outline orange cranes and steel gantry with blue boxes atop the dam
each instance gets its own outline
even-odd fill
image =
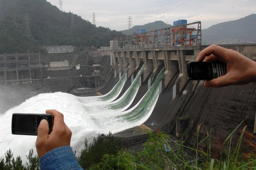
[[[113,39],[117,49],[159,48],[170,46],[201,45],[201,21],[187,23],[187,20],[174,21],[169,28]]]

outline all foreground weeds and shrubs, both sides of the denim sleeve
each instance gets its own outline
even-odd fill
[[[93,144],[87,144],[86,140],[78,160],[84,170],[256,170],[256,136],[248,133],[245,126],[236,146],[231,144],[241,124],[224,142],[217,142],[215,149],[219,152],[215,153],[211,148],[213,130],[198,141],[201,127],[198,125],[195,147],[185,146],[183,138],[173,141],[157,130],[148,132],[148,141],[142,150],[130,151],[124,150],[120,141],[109,133],[106,138],[99,135]],[[20,156],[15,159],[8,150],[5,157],[0,158],[0,170],[39,170],[38,156],[33,156],[33,150],[27,158],[29,163],[23,165]]]

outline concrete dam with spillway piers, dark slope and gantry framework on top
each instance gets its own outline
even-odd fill
[[[196,24],[201,29],[201,23]],[[140,87],[132,104],[126,110],[136,106],[151,86],[158,86],[154,88],[159,90],[158,100],[147,120],[142,125],[116,133],[115,136],[121,138],[126,146],[133,146],[147,140],[145,134],[147,129],[158,128],[171,135],[173,140],[183,137],[186,144],[195,146],[195,135],[200,125],[199,140],[207,135],[207,131],[212,130],[214,148],[223,142],[244,119],[241,128],[247,125],[248,132],[256,133],[255,85],[206,88],[203,85],[204,81],[189,81],[186,63],[195,61],[198,53],[207,45],[201,45],[201,30],[195,29],[196,35],[191,36],[189,27],[183,28],[181,34],[176,34],[184,38],[179,39],[180,44],[175,45],[175,41],[172,43],[170,38],[172,35],[172,40],[176,39],[176,35],[171,34],[172,29],[175,28],[121,37],[110,42],[110,64],[113,67],[109,74],[110,81],[106,88],[100,91],[102,94],[106,94],[118,82],[121,75],[125,75],[125,84],[115,100],[121,98],[134,78],[139,75],[142,67],[143,73],[139,75]],[[189,37],[188,40],[185,37]],[[256,44],[221,46],[256,60]],[[72,93],[86,92],[88,91],[74,89]],[[233,136],[233,142],[236,142],[240,136],[239,130]]]

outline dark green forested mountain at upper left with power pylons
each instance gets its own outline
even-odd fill
[[[43,46],[73,45],[86,47],[109,46],[109,40],[123,37],[121,32],[96,27],[72,13],[61,12],[46,0],[1,0],[4,20],[0,21],[0,53],[44,52]],[[28,14],[32,39],[25,34]],[[17,23],[17,27],[15,21]]]

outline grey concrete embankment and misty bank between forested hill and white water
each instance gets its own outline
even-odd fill
[[[50,62],[65,60],[68,61],[69,66],[50,67]],[[113,68],[109,63],[109,54],[105,55],[105,52],[97,51],[47,55],[2,54],[0,55],[2,112],[40,93],[68,92],[74,88],[90,89],[105,86],[110,78],[108,75],[113,74],[111,73]],[[76,69],[78,64],[80,69]],[[100,66],[93,67],[93,64]],[[93,75],[94,70],[98,70],[99,74]]]

